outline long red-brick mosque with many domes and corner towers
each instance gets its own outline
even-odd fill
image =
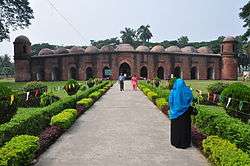
[[[18,36],[14,41],[16,81],[87,80],[93,76],[117,79],[120,73],[128,78],[136,74],[146,79],[169,79],[173,74],[186,80],[236,80],[238,73],[234,37],[223,40],[220,54],[214,54],[208,47],[157,45],[150,49],[129,44],[101,49],[44,48],[36,56],[31,53],[29,39]]]

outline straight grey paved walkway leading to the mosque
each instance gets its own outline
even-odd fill
[[[195,148],[170,145],[170,122],[140,91],[115,84],[39,159],[37,166],[206,166]]]

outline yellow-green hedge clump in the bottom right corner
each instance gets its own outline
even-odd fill
[[[218,136],[209,136],[202,143],[203,152],[217,166],[249,166],[250,156],[238,149],[228,140]]]

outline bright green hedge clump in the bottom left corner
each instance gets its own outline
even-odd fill
[[[0,148],[0,165],[30,165],[35,152],[39,149],[38,139],[29,135],[12,138]]]

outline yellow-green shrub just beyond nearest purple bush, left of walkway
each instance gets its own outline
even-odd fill
[[[68,129],[75,122],[77,111],[75,109],[66,109],[63,112],[53,116],[50,125],[59,126],[62,129]]]

